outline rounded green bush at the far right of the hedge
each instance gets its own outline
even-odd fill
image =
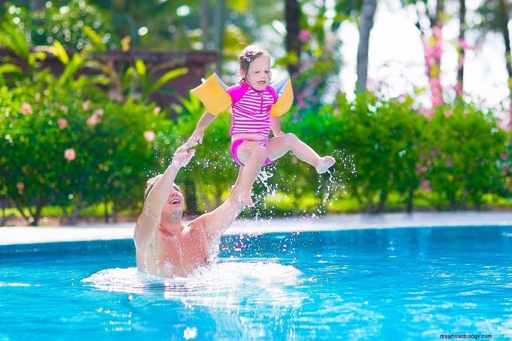
[[[485,193],[498,192],[505,179],[497,162],[507,155],[507,133],[498,128],[491,112],[462,101],[439,106],[422,133],[429,148],[420,155],[418,165],[436,193],[435,206],[480,207]]]

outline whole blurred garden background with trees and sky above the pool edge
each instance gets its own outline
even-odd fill
[[[337,163],[266,168],[245,216],[508,210],[510,0],[0,0],[0,225],[133,220],[247,44],[290,76],[282,117]],[[229,194],[229,113],[177,178]]]

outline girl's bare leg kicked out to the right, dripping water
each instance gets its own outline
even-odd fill
[[[292,133],[273,137],[267,144],[268,158],[272,161],[277,160],[289,151],[298,157],[299,160],[313,166],[318,174],[325,173],[336,162],[332,156],[322,157],[318,155],[313,148],[302,142]]]

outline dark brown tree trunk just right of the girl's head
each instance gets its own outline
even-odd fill
[[[286,20],[286,52],[297,56],[297,61],[301,56],[301,44],[298,40],[299,19],[301,10],[297,0],[285,0],[285,20]],[[288,64],[288,73],[291,77],[298,74],[300,62]]]

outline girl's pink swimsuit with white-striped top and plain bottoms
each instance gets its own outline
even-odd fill
[[[267,139],[256,142],[266,147],[270,133],[270,109],[278,101],[278,94],[274,88],[267,85],[263,90],[256,90],[246,81],[241,80],[228,87],[226,92],[231,96],[232,113],[229,135],[259,134]],[[246,141],[250,140],[240,139],[231,143],[231,154],[234,161],[240,166],[243,164],[238,158],[237,150]],[[263,166],[271,163],[272,161],[267,157]]]

